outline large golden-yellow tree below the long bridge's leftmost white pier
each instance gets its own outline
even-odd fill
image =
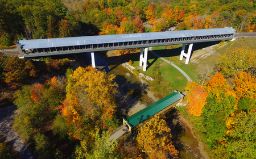
[[[106,120],[111,120],[114,113],[114,94],[117,83],[112,82],[115,75],[97,71],[91,66],[77,68],[68,79],[67,100],[78,114],[87,114],[90,119],[97,119],[105,128]],[[76,115],[77,116],[77,115]],[[80,118],[76,118],[80,119]]]

